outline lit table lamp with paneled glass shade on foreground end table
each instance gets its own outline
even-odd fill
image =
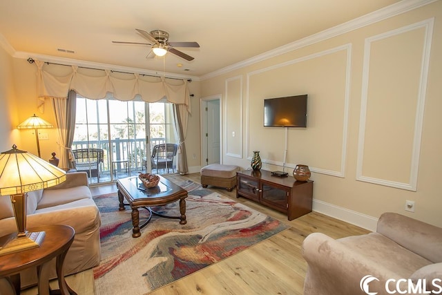
[[[0,196],[10,196],[17,222],[18,234],[3,236],[0,256],[39,247],[44,231],[26,230],[26,204],[28,191],[52,187],[66,180],[66,172],[32,153],[12,149],[0,153]]]

